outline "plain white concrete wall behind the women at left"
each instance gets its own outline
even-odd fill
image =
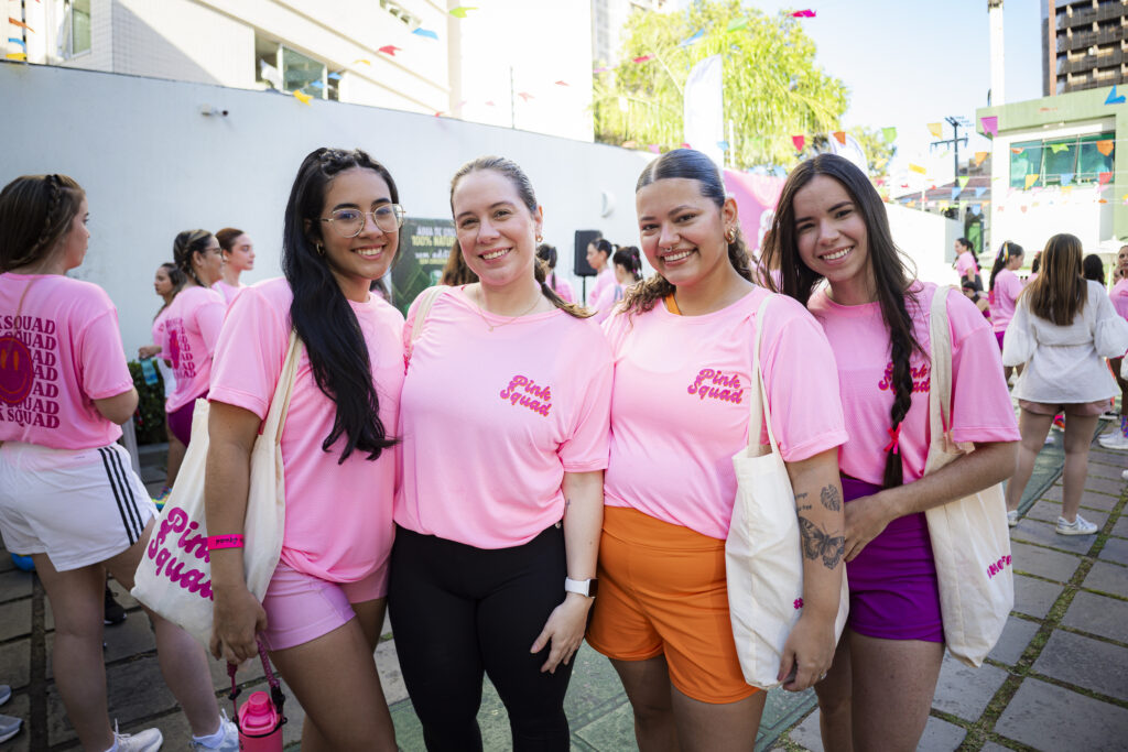
[[[149,339],[157,265],[180,230],[233,225],[255,241],[245,281],[280,274],[282,212],[302,158],[321,145],[360,147],[384,161],[408,214],[450,215],[449,180],[465,161],[500,153],[529,174],[545,238],[571,275],[573,232],[637,238],[634,184],[651,158],[616,147],[462,123],[433,115],[276,94],[0,62],[6,118],[0,184],[63,172],[86,188],[90,250],[74,275],[118,307],[127,352]],[[201,105],[229,115],[203,116]],[[11,127],[14,125],[14,127]],[[618,201],[600,216],[601,194]],[[572,277],[579,290],[578,280]]]

